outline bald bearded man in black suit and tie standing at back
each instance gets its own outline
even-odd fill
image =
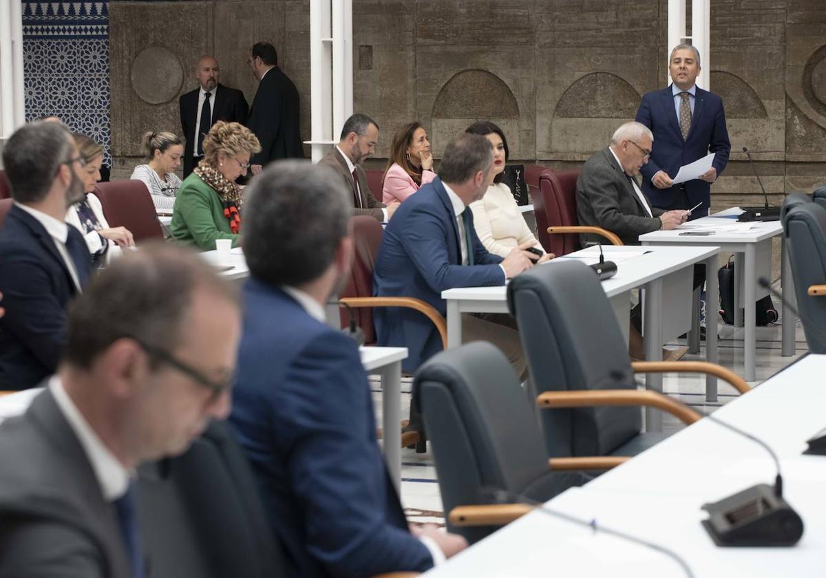
[[[247,120],[247,100],[244,92],[226,87],[219,82],[221,69],[218,61],[206,54],[195,65],[195,78],[200,85],[181,95],[178,107],[181,111],[181,130],[186,145],[183,149],[183,178],[203,159],[202,143],[217,121],[240,122]]]

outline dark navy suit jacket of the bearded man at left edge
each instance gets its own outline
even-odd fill
[[[86,246],[71,225],[69,235]],[[90,272],[92,259],[85,254],[83,265]],[[0,230],[0,292],[6,308],[0,318],[0,389],[37,386],[57,369],[66,340],[66,304],[77,290],[55,241],[18,206],[8,211]]]

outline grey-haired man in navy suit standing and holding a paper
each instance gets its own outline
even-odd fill
[[[654,134],[648,164],[640,169],[643,192],[651,204],[665,211],[691,209],[691,219],[708,215],[711,183],[729,162],[729,132],[722,99],[695,84],[700,73],[700,52],[691,45],[672,50],[668,72],[673,84],[648,92],[637,111],[637,121]],[[714,153],[714,163],[699,179],[675,185],[680,167]]]

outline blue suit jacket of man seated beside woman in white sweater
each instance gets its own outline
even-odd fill
[[[487,252],[473,228],[474,263],[463,267],[458,226],[442,181],[434,179],[401,203],[387,224],[378,248],[373,274],[373,293],[381,297],[415,297],[447,315],[442,291],[453,287],[504,285],[502,258]],[[380,307],[374,319],[380,345],[406,347],[406,371],[442,349],[439,332],[418,311]]]

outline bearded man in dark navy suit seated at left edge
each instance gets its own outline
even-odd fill
[[[80,231],[64,221],[83,199],[82,162],[57,122],[22,126],[2,153],[14,205],[0,230],[0,389],[36,386],[55,372],[66,304],[92,271]]]

